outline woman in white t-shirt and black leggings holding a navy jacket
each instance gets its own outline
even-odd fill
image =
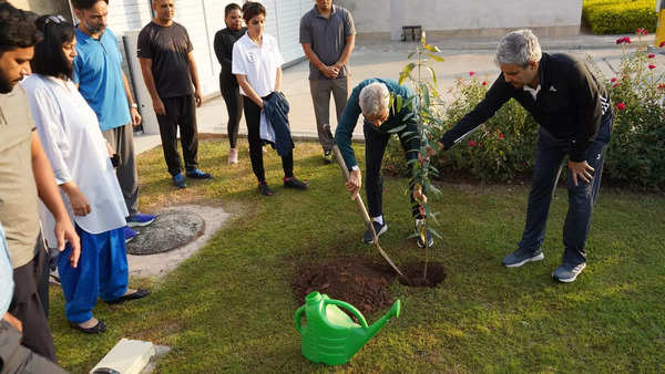
[[[265,34],[266,9],[259,2],[248,1],[243,6],[243,18],[247,23],[247,32],[233,45],[232,72],[238,80],[247,138],[249,141],[249,158],[252,169],[258,179],[262,195],[272,196],[273,190],[266,181],[263,162],[263,141],[260,139],[260,113],[264,100],[270,98],[273,92],[282,86],[282,64],[284,60],[275,38]],[[284,169],[284,187],[307,189],[307,184],[294,177],[293,152],[282,156]]]

